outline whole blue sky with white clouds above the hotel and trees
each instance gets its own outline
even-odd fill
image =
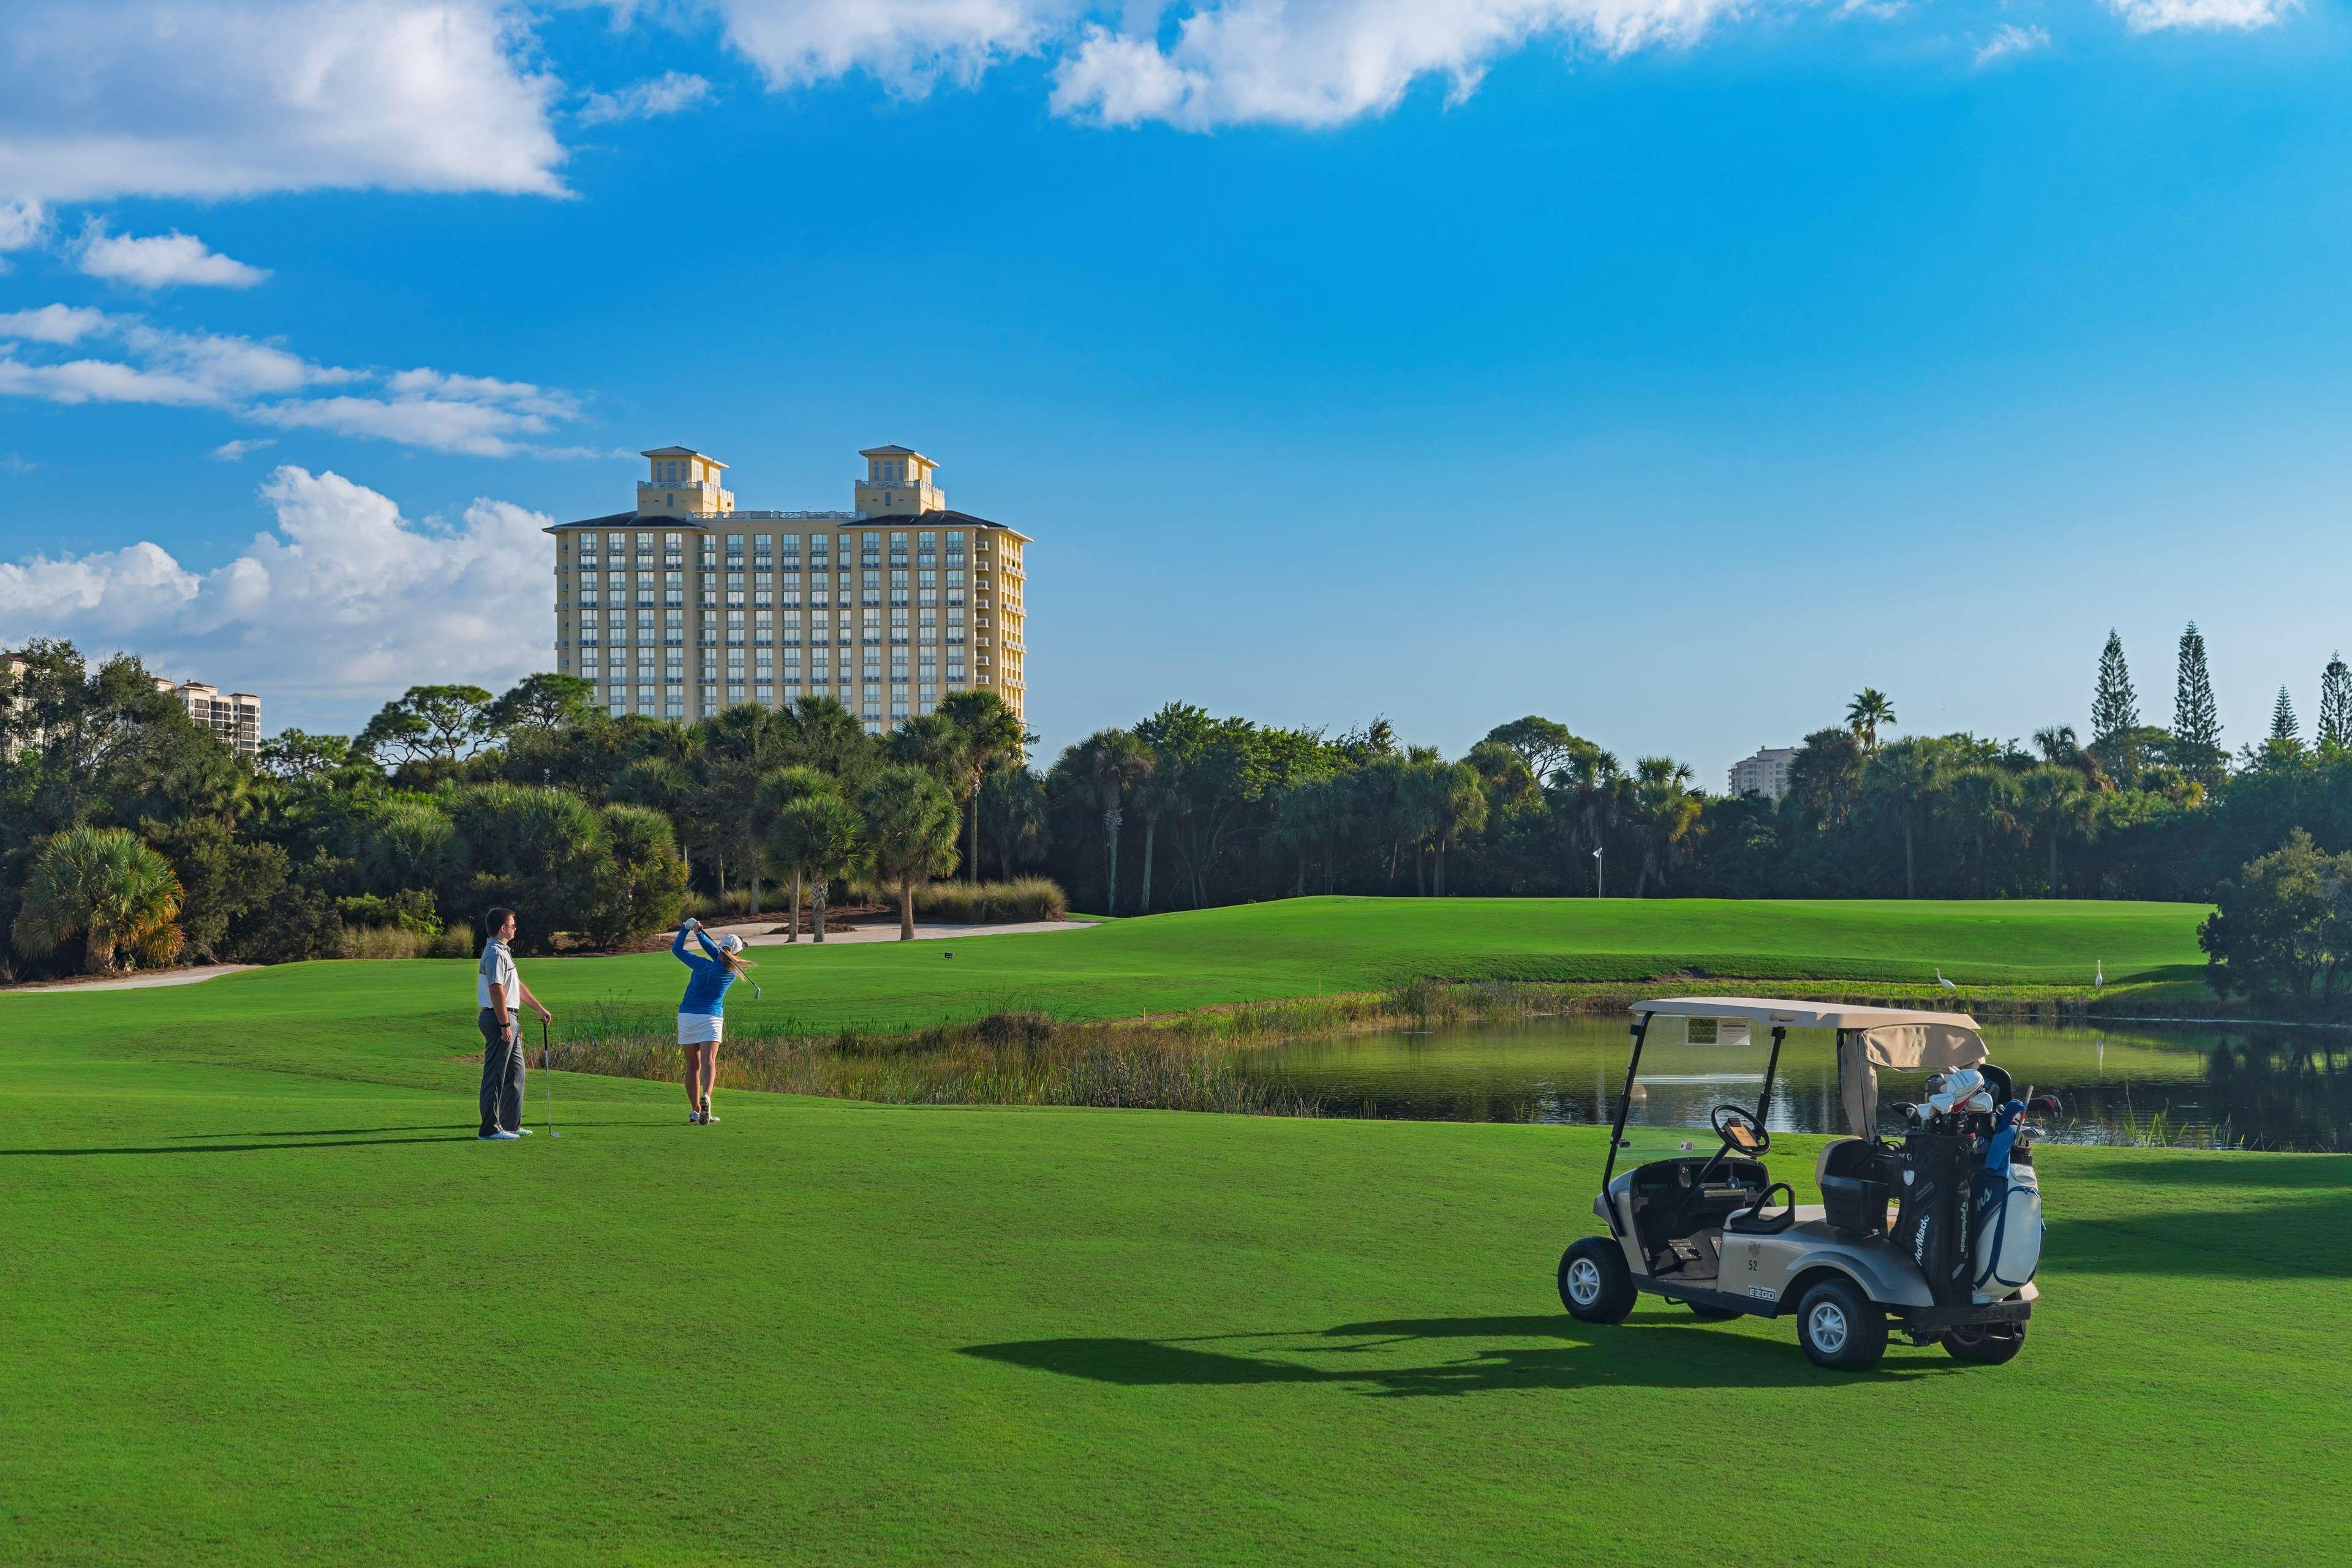
[[[666,442],[1033,534],[1049,750],[1545,712],[1719,788],[1865,682],[2082,724],[2110,625],[2232,741],[2352,644],[2343,5],[162,14],[0,21],[0,642],[270,726],[548,668],[536,529]]]

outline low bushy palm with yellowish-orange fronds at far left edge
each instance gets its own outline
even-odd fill
[[[179,954],[179,877],[172,865],[122,827],[68,827],[33,853],[12,936],[16,950],[42,959],[82,938],[82,971],[103,973],[118,952],[141,964]]]

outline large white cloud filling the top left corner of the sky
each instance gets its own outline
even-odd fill
[[[557,195],[529,47],[496,0],[16,0],[0,193]]]

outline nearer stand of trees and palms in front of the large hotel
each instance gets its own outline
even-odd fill
[[[666,724],[532,675],[496,698],[414,686],[358,736],[287,729],[247,764],[136,658],[21,658],[0,677],[0,978],[334,957],[386,931],[423,952],[489,905],[520,910],[527,950],[623,947],[694,889],[757,914],[786,886],[795,933],[807,893],[821,940],[849,877],[887,884],[913,936],[917,889],[976,865],[981,780],[1030,745],[993,693],[877,738],[828,698]]]

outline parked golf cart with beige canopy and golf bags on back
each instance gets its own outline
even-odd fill
[[[1632,1016],[1592,1199],[1609,1234],[1559,1260],[1571,1316],[1618,1324],[1644,1291],[1703,1321],[1795,1314],[1804,1354],[1835,1368],[1875,1366],[1889,1328],[1973,1363],[2025,1347],[2042,1258],[2025,1112],[2058,1103],[2011,1098],[1973,1018],[1748,997],[1639,1001]],[[1853,1135],[1820,1152],[1820,1206],[1764,1168],[1790,1030],[1837,1032]],[[1879,1067],[1940,1074],[1926,1103],[1893,1107],[1900,1140],[1877,1135]]]

